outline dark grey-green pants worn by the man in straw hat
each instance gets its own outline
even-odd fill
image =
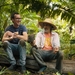
[[[35,47],[31,49],[31,52],[41,67],[46,66],[45,61],[55,60],[56,59],[56,69],[61,73],[62,69],[62,60],[63,55],[60,51],[56,54],[53,51],[45,51],[45,50],[38,50]]]

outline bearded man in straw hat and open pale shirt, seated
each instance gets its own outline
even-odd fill
[[[34,58],[41,67],[38,72],[43,72],[47,68],[44,61],[56,59],[55,68],[61,73],[63,54],[59,51],[59,36],[56,32],[52,32],[57,27],[52,24],[49,18],[39,22],[39,25],[43,28],[43,31],[38,32],[36,35],[35,45],[37,48],[32,47],[31,49]]]

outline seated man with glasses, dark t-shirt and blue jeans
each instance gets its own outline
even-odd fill
[[[11,66],[9,70],[15,70],[16,64],[20,66],[21,73],[25,72],[26,64],[26,46],[25,41],[28,39],[27,30],[24,25],[21,25],[21,17],[19,13],[11,15],[12,25],[5,29],[2,38],[4,49],[7,52]],[[19,60],[16,62],[14,55],[19,55]]]

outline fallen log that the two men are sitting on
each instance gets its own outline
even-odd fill
[[[2,54],[4,53],[4,54]],[[9,66],[9,59],[5,54],[5,51],[0,51],[0,66]],[[48,68],[55,68],[56,61],[46,62]],[[31,72],[37,72],[40,69],[37,61],[34,59],[32,55],[27,55],[26,58],[26,68]],[[74,60],[63,60],[63,73],[74,73],[75,74],[75,61]]]

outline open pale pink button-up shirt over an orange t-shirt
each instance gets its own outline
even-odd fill
[[[60,47],[59,36],[56,32],[51,32],[50,38],[51,38],[52,48]],[[44,42],[45,42],[44,31],[38,32],[35,37],[35,44],[37,45],[38,48],[43,48]]]

